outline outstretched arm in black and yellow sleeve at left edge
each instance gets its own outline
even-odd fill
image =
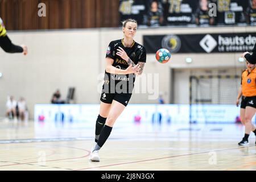
[[[3,20],[0,18],[0,47],[8,53],[23,53],[23,55],[27,55],[27,46],[14,45],[9,37],[7,36],[7,32],[5,29],[5,25],[3,24]]]

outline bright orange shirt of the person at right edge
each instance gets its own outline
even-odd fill
[[[245,97],[256,96],[256,68],[249,73],[248,69],[242,72],[242,95]]]

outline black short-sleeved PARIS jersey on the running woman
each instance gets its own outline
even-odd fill
[[[114,60],[114,63],[112,64],[113,67],[118,69],[126,69],[127,67],[129,67],[126,60],[123,60],[120,56],[116,55],[118,47],[122,47],[125,50],[127,56],[130,57],[134,64],[138,64],[138,62],[146,63],[146,49],[144,48],[144,46],[134,41],[131,47],[125,47],[123,44],[123,39],[119,39],[110,42],[109,47],[106,51],[106,57],[109,57]],[[105,71],[105,86],[115,86],[119,82],[121,82],[119,83],[119,85],[125,84],[128,86],[133,85],[134,81],[134,73],[127,75],[115,75]]]

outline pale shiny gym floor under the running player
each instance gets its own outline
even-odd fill
[[[0,121],[0,170],[255,170],[255,136],[243,126],[117,123],[90,162],[92,123]]]

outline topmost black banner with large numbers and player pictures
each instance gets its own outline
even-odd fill
[[[157,10],[153,10],[156,5],[152,0],[119,0],[119,14],[121,20],[133,18],[138,24],[148,26],[256,24],[253,1],[207,0],[200,3],[199,0],[158,0]]]

